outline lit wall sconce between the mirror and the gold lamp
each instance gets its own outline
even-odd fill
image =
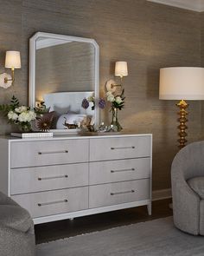
[[[114,92],[117,87],[122,87],[123,77],[128,75],[127,62],[116,62],[115,64],[115,76],[120,77],[120,83],[110,79],[105,82],[105,90]]]

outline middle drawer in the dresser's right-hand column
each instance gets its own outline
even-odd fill
[[[150,178],[150,157],[90,163],[89,184]]]

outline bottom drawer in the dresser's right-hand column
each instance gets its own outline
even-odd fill
[[[138,200],[150,200],[150,179],[90,186],[89,207],[105,207]]]

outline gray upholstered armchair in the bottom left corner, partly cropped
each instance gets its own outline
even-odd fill
[[[35,255],[33,220],[25,209],[2,193],[0,193],[0,255]]]

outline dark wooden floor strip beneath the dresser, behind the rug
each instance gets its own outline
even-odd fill
[[[91,233],[116,226],[130,225],[132,223],[155,220],[172,215],[169,208],[171,200],[157,200],[152,205],[152,215],[147,213],[147,207],[135,207],[110,213],[99,213],[80,217],[74,220],[60,220],[46,224],[35,225],[36,243]]]

